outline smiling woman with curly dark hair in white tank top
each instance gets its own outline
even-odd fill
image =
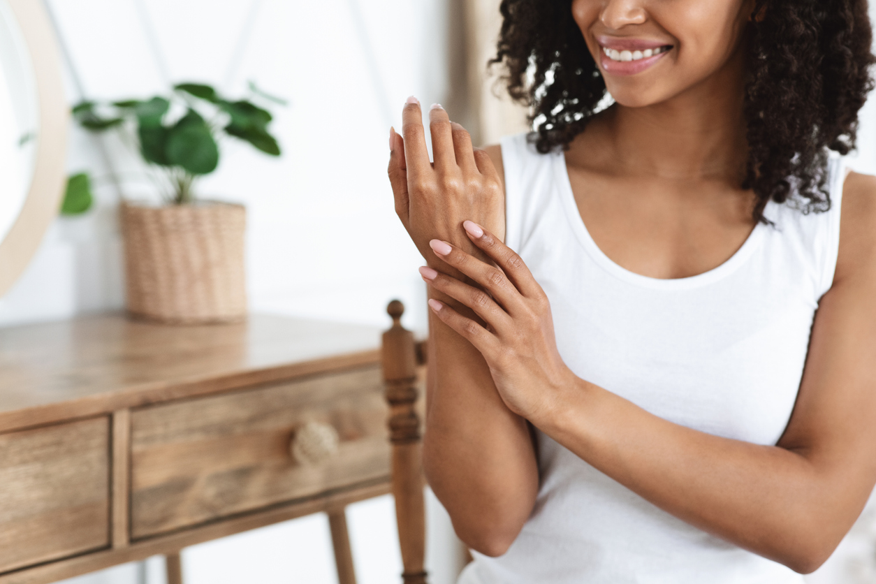
[[[390,138],[460,581],[802,581],[876,482],[876,178],[827,154],[864,0],[502,12],[533,138],[473,150],[434,106],[433,165],[413,98]]]

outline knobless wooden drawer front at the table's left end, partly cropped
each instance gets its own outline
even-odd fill
[[[109,419],[0,434],[0,573],[109,546]]]

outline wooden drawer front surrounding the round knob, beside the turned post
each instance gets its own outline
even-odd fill
[[[390,474],[378,365],[234,391],[131,414],[131,537],[202,524]],[[290,441],[307,423],[339,438],[300,463]]]

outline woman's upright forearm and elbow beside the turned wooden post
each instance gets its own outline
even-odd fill
[[[423,464],[429,485],[467,545],[500,555],[538,491],[526,420],[502,402],[477,349],[434,318],[428,351]]]

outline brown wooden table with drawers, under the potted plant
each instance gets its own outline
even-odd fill
[[[317,511],[351,581],[343,508],[391,489],[381,332],[261,315],[0,329],[0,584],[154,554],[180,581],[183,547]],[[329,446],[295,451],[306,425]]]

